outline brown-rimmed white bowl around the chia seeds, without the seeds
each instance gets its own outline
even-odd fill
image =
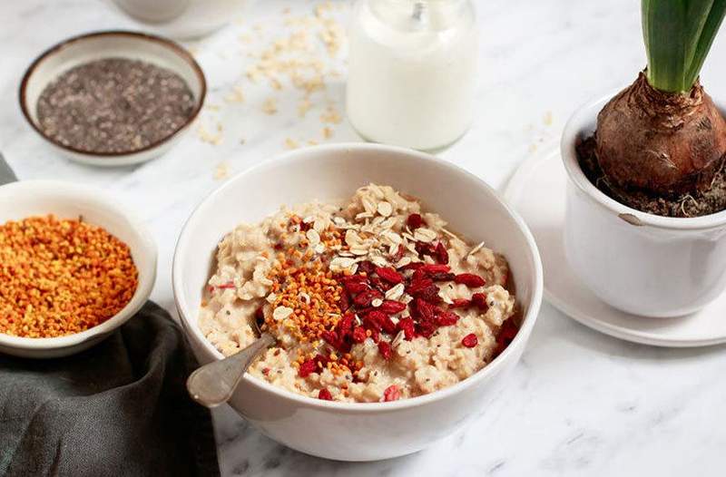
[[[47,136],[38,123],[36,105],[48,83],[79,64],[109,57],[141,60],[179,74],[194,95],[194,110],[189,119],[161,141],[128,152],[83,151]],[[20,83],[20,109],[34,131],[68,159],[101,167],[125,166],[152,160],[169,151],[182,138],[183,133],[189,130],[191,122],[201,111],[206,92],[207,84],[201,67],[178,44],[150,34],[97,32],[69,38],[36,58]]]

